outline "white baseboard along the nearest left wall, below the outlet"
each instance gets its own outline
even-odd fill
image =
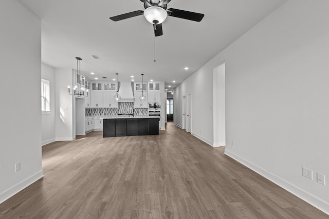
[[[0,204],[8,200],[10,197],[14,196],[15,194],[19,193],[29,185],[33,184],[34,182],[40,180],[43,177],[43,171],[40,170],[39,172],[31,175],[30,177],[26,178],[20,183],[10,187],[6,191],[0,194]]]

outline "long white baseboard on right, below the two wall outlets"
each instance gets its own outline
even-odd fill
[[[248,167],[249,169],[257,172],[258,174],[260,174],[261,176],[264,176],[265,178],[267,178],[267,180],[277,184],[278,186],[280,186],[281,188],[287,190],[288,192],[296,195],[297,197],[301,198],[302,200],[304,200],[305,202],[307,202],[310,205],[313,205],[314,207],[316,207],[317,209],[323,211],[324,213],[329,215],[329,203],[322,200],[319,197],[314,196],[313,194],[310,194],[309,192],[285,181],[283,178],[280,178],[279,176],[269,173],[268,171],[264,170],[263,168],[254,165],[248,161],[246,161],[244,158],[230,152],[229,150],[225,149],[224,154],[226,154],[227,156],[231,157],[232,159],[234,159],[235,161],[241,163],[242,165]]]

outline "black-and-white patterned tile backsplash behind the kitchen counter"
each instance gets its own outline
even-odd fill
[[[86,109],[86,116],[115,116],[117,114],[134,114],[134,115],[148,115],[148,108],[134,109],[134,103],[118,103],[118,108],[91,108]]]

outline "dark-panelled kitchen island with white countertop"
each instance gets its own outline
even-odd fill
[[[157,117],[130,116],[103,119],[103,137],[158,134],[159,118]]]

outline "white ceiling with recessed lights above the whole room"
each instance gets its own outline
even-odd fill
[[[172,0],[168,8],[205,17],[198,23],[169,16],[163,35],[156,37],[156,63],[153,26],[144,16],[109,19],[143,10],[139,0],[19,1],[42,19],[43,63],[76,69],[75,57],[81,57],[81,72],[89,79],[112,79],[119,73],[119,81],[131,75],[141,81],[144,73],[144,81],[165,81],[172,90],[286,0]]]

